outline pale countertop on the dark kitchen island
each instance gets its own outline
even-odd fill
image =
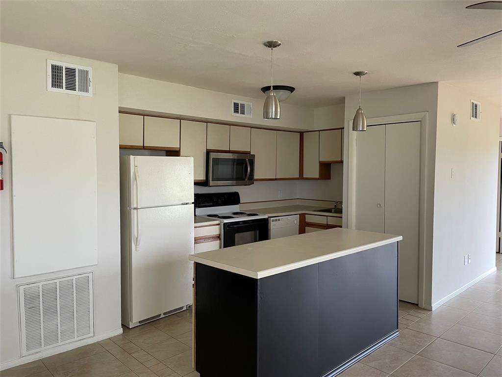
[[[259,279],[402,239],[392,234],[335,228],[191,254],[188,258]]]

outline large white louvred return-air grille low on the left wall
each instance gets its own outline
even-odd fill
[[[23,356],[94,335],[92,272],[18,289]]]

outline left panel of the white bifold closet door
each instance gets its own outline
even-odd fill
[[[355,229],[385,230],[385,125],[356,134]]]

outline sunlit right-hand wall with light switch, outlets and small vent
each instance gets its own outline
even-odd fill
[[[481,103],[479,122],[469,120],[471,99]],[[495,104],[439,82],[433,303],[495,267],[498,111]],[[458,114],[456,127],[452,114]],[[464,266],[469,253],[472,261]]]

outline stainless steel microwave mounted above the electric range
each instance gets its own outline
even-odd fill
[[[207,186],[237,186],[255,183],[255,155],[207,152]]]

